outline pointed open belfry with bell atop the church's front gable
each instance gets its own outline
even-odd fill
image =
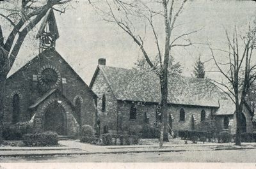
[[[56,40],[60,37],[56,19],[52,9],[49,9],[42,20],[42,24],[36,34],[36,38],[39,39],[39,53],[44,50],[55,48]]]

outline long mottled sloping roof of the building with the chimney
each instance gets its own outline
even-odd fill
[[[102,71],[116,99],[152,103],[161,101],[159,77],[155,73],[99,65],[90,87],[93,86],[99,70]],[[171,104],[220,106],[220,90],[209,80],[172,76],[168,77],[168,90],[168,103]]]

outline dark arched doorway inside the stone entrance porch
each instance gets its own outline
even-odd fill
[[[46,108],[44,130],[56,131],[58,135],[67,135],[65,110],[59,103],[54,102]]]

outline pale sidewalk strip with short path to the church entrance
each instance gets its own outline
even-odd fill
[[[189,151],[218,151],[232,149],[255,149],[256,143],[243,143],[242,147],[234,143],[205,143],[205,144],[172,144],[159,149],[154,145],[91,145],[79,140],[60,140],[60,147],[0,147],[0,156],[54,156],[72,154],[124,154],[138,152],[189,152]]]

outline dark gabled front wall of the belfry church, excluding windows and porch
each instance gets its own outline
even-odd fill
[[[73,106],[75,106],[75,98],[82,98],[81,124],[93,126],[96,111],[93,100],[96,97],[95,94],[70,68],[67,62],[56,51],[52,50],[45,50],[6,80],[4,120],[6,122],[12,121],[12,93],[15,91],[22,95],[22,99],[20,99],[20,113],[22,114],[20,115],[20,121],[30,120],[33,112],[29,110],[29,106],[49,90],[42,87],[37,76],[40,69],[47,65],[51,65],[52,68],[56,68],[60,72],[61,79],[57,88],[63,92]],[[37,76],[36,80],[33,80],[33,75]],[[66,78],[66,84],[63,84],[63,78]]]

